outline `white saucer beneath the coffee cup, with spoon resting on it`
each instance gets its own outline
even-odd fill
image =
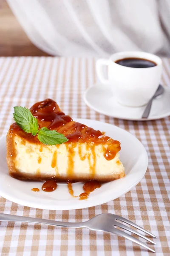
[[[112,116],[126,120],[154,120],[170,115],[170,88],[164,86],[164,94],[153,100],[150,115],[147,119],[142,119],[142,113],[146,106],[131,108],[119,104],[110,90],[109,86],[94,84],[89,87],[84,94],[85,103],[95,111],[106,116]]]

